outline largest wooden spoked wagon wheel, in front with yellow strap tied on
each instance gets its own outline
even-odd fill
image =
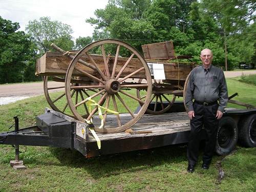
[[[108,53],[111,52],[112,55],[115,56],[106,56],[105,49],[108,50]],[[101,52],[101,60],[94,59],[92,52],[95,50]],[[118,57],[119,54],[125,54],[127,57]],[[85,57],[88,62],[84,60]],[[103,72],[106,73],[104,74]],[[77,104],[71,99],[70,90],[72,87],[70,86],[70,82],[73,73],[80,73],[83,76],[87,76],[92,80],[99,82],[98,86],[80,86],[80,88],[90,87],[91,89],[98,89],[99,92],[92,95],[90,98],[95,100],[100,106],[119,113],[125,113],[114,115],[110,112],[103,111],[104,125],[100,128],[101,120],[99,115],[95,114],[97,112],[97,106],[93,106],[87,120],[90,120],[95,114],[93,124],[95,125],[95,131],[97,132],[115,133],[131,127],[141,118],[150,103],[152,93],[150,70],[140,53],[123,41],[114,39],[95,41],[78,52],[69,65],[66,74],[66,94],[68,103],[74,116],[80,121],[85,121],[76,110],[76,106],[88,102],[87,98],[84,98],[83,101]],[[129,78],[140,77],[145,78],[147,82],[124,82],[124,80]],[[77,88],[79,88],[79,86]],[[138,99],[135,95],[136,89],[139,88],[147,90],[144,101]],[[99,93],[103,94],[101,98],[97,98]],[[142,107],[139,112],[134,113],[133,110],[137,107],[138,102],[142,103]]]

